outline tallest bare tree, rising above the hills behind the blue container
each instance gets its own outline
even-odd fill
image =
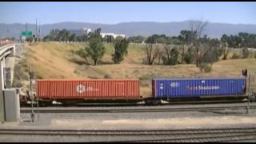
[[[199,53],[202,50],[202,35],[204,35],[205,28],[207,26],[208,22],[202,22],[202,21],[191,21],[190,22],[190,30],[192,31],[192,43],[194,46],[194,53],[196,57],[196,66],[198,66],[199,62]]]

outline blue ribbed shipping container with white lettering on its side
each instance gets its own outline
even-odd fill
[[[155,98],[228,96],[245,94],[246,78],[170,78],[153,79]]]

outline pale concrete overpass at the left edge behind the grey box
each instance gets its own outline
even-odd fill
[[[3,90],[10,88],[14,79],[14,54],[13,42],[0,43],[0,122],[4,122]]]

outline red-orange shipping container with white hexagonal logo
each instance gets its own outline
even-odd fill
[[[139,99],[138,79],[44,79],[37,82],[40,99]]]

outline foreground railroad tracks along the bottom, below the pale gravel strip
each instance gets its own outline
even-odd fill
[[[103,138],[102,142],[226,142],[256,140],[254,128],[185,129],[185,130],[25,130],[0,129],[0,135],[39,135]],[[81,137],[82,136],[82,137]],[[105,140],[106,139],[106,140]],[[120,140],[121,139],[121,140]],[[82,139],[80,139],[82,140]]]

